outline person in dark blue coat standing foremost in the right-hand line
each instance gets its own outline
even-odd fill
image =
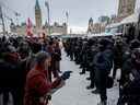
[[[95,84],[101,95],[100,105],[107,105],[107,77],[113,68],[113,51],[108,47],[109,44],[108,39],[101,39],[100,51],[94,58]]]

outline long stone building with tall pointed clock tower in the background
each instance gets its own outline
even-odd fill
[[[25,35],[26,34],[26,23],[22,23],[21,25],[15,25],[13,22],[10,25],[11,32],[16,33],[18,35]],[[48,35],[48,23],[46,22],[43,25],[42,22],[42,9],[39,7],[38,0],[36,0],[35,4],[35,25],[32,26],[33,34],[40,34],[45,32]],[[50,34],[59,34],[59,35],[67,35],[68,33],[68,25],[62,23],[61,25],[57,22],[54,25],[50,25]]]

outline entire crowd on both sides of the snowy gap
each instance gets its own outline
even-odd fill
[[[80,74],[90,72],[88,90],[107,105],[107,89],[119,83],[117,105],[140,105],[140,39],[132,28],[117,37],[69,37],[62,40]],[[71,71],[60,70],[61,46],[51,37],[0,37],[0,93],[3,105],[48,105]],[[117,71],[120,70],[120,79]],[[54,77],[52,77],[54,75]],[[94,89],[94,90],[93,90]]]

